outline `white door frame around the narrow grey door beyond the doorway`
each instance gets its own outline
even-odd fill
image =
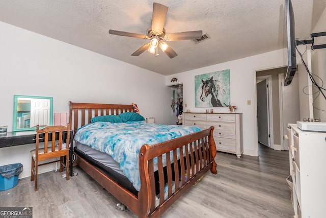
[[[260,70],[257,70],[260,71]],[[257,75],[257,71],[256,71],[256,75]],[[267,88],[267,94],[268,94],[268,129],[269,129],[269,143],[270,143],[270,147],[271,149],[274,149],[274,132],[273,132],[273,103],[272,103],[272,90],[271,90],[271,75],[267,75],[267,76],[256,76],[256,84],[257,84],[257,80],[266,80],[266,84],[268,85]],[[256,107],[257,107],[257,88],[256,88]],[[256,109],[256,122],[257,122],[257,109]],[[257,125],[257,135],[258,135],[258,125]],[[257,136],[258,137],[258,136]],[[258,142],[258,139],[257,139]],[[259,143],[259,142],[258,142]],[[257,146],[258,146],[257,143]]]

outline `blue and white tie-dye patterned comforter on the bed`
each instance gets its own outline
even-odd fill
[[[201,131],[193,126],[158,125],[145,122],[96,122],[79,128],[74,139],[110,155],[136,190],[140,190],[138,155],[143,144],[160,142]]]

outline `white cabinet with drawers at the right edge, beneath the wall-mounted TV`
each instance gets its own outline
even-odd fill
[[[291,198],[297,217],[325,217],[326,133],[301,131],[289,124]]]

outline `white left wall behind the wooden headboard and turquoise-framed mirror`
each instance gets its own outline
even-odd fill
[[[8,125],[9,132],[14,94],[51,96],[53,113],[68,113],[69,101],[135,103],[145,118],[175,124],[165,76],[4,22],[0,32],[0,125]],[[29,176],[34,147],[1,148],[0,165],[22,163],[20,178]]]

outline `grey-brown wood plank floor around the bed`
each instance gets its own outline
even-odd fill
[[[261,147],[259,157],[218,152],[218,175],[208,172],[162,217],[293,217],[287,151]],[[39,175],[38,191],[30,178],[0,191],[0,207],[33,207],[34,218],[136,217],[116,208],[118,201],[82,169],[69,181],[61,173]]]

